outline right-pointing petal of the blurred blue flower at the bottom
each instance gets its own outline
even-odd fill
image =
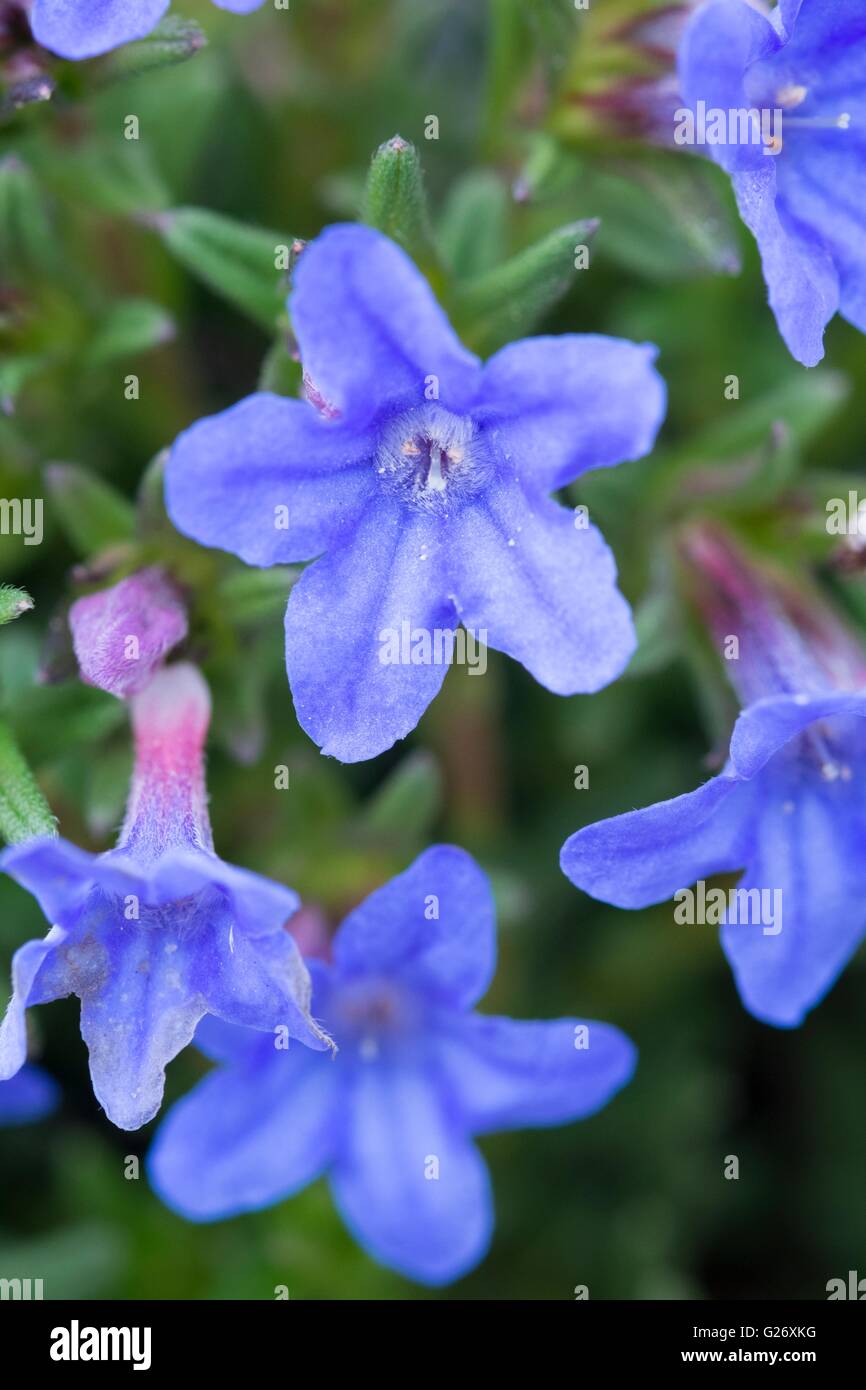
[[[460,1019],[446,1042],[452,1094],[474,1134],[564,1125],[631,1080],[634,1044],[609,1023]]]

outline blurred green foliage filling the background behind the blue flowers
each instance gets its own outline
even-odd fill
[[[44,498],[42,545],[0,537],[0,578],[35,600],[0,632],[4,728],[61,833],[106,848],[128,730],[117,701],[75,681],[64,614],[160,557],[190,598],[190,652],[214,688],[220,852],[292,884],[335,924],[425,844],[460,842],[499,903],[485,1008],[617,1023],[641,1063],[589,1122],[484,1141],[493,1250],[430,1294],[353,1245],[321,1183],[215,1226],[171,1215],[125,1176],[149,1133],[100,1116],[76,1005],[58,1004],[38,1011],[33,1037],[64,1106],[3,1133],[0,1268],[42,1272],[49,1297],[270,1298],[278,1284],[292,1298],[570,1298],[577,1284],[592,1298],[823,1297],[866,1248],[862,954],[802,1029],[776,1031],[741,1008],[712,929],[595,903],[557,853],[580,824],[696,785],[724,737],[730,699],[671,543],[684,517],[727,517],[866,624],[863,580],[837,563],[823,524],[826,498],[862,470],[866,342],[837,321],[827,366],[798,367],[724,177],[584,118],[582,85],[641,71],[610,33],[651,4],[303,0],[243,21],[204,0],[177,8],[209,38],[188,61],[158,67],[150,42],[53,64],[54,100],[0,128],[0,496]],[[131,115],[138,139],[125,138]],[[420,164],[367,185],[395,133]],[[410,249],[474,346],[537,327],[649,339],[670,410],[652,459],[589,475],[566,499],[589,506],[635,605],[628,678],[557,699],[491,653],[484,681],[449,676],[405,745],[342,767],[292,712],[281,612],[295,571],[247,571],[175,535],[160,453],[260,382],[297,391],[274,246],[403,203]],[[584,271],[575,242],[589,245]],[[738,399],[726,399],[731,374]],[[288,791],[274,790],[278,764]],[[43,926],[0,880],[4,960]],[[192,1051],[178,1058],[168,1098],[204,1068]],[[738,1182],[723,1176],[731,1154]]]

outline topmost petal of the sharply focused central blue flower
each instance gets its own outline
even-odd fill
[[[475,391],[478,359],[409,256],[370,227],[317,236],[295,270],[289,307],[304,373],[353,425],[423,404],[430,377],[457,413]]]

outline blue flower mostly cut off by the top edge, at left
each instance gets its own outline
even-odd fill
[[[171,0],[35,0],[33,38],[61,58],[93,58],[156,29]],[[214,0],[221,10],[250,14],[264,0]]]

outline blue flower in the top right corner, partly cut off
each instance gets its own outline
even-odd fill
[[[763,140],[709,153],[731,175],[778,329],[808,367],[837,310],[866,329],[865,67],[862,0],[780,0],[769,17],[748,0],[709,0],[680,46],[692,111],[763,113]]]

